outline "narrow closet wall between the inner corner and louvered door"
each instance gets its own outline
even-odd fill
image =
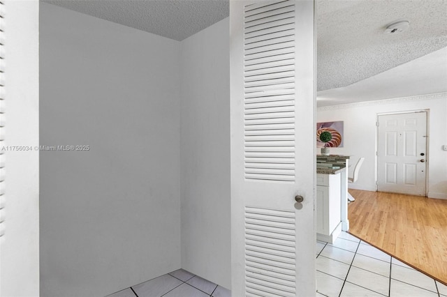
[[[230,288],[228,18],[182,41],[182,268]]]

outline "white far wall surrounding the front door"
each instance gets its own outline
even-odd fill
[[[377,114],[430,109],[428,153],[428,197],[447,199],[447,93],[370,101],[317,109],[317,122],[344,121],[344,147],[331,154],[351,155],[351,164],[364,156],[358,181],[350,188],[376,190]]]

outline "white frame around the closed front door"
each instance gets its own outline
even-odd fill
[[[425,197],[428,197],[428,181],[429,181],[429,167],[430,167],[430,109],[413,109],[413,110],[404,110],[400,112],[378,112],[376,114],[376,155],[375,155],[375,178],[376,178],[376,192],[379,189],[379,116],[389,116],[393,114],[413,114],[418,112],[425,112]]]

